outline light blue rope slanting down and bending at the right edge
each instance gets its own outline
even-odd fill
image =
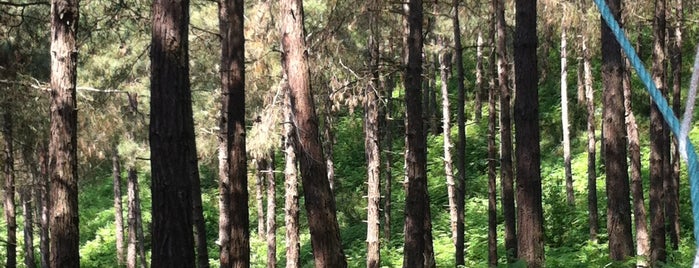
[[[626,53],[626,56],[629,58],[629,61],[631,61],[631,65],[633,65],[634,69],[636,69],[636,73],[648,89],[648,93],[650,93],[651,98],[653,98],[653,101],[657,104],[660,113],[665,119],[665,122],[667,122],[668,126],[670,126],[672,133],[675,135],[675,137],[681,137],[680,123],[677,120],[677,117],[675,117],[670,105],[668,105],[663,95],[655,86],[655,83],[653,83],[650,74],[643,66],[641,59],[638,58],[638,54],[636,54],[633,46],[631,46],[631,42],[629,42],[629,39],[626,38],[626,35],[621,30],[621,27],[619,27],[619,24],[614,19],[609,7],[603,0],[595,0],[595,4],[599,8],[600,13],[602,13],[602,18],[604,18],[607,25],[609,25],[609,28],[614,33],[614,36],[621,45],[621,48],[624,50],[624,53]],[[699,249],[699,164],[697,162],[697,154],[694,151],[694,146],[692,146],[689,137],[685,136],[685,142],[687,144],[687,163],[689,165],[692,216],[694,218],[694,242],[697,249]],[[699,251],[697,253],[699,254]],[[696,264],[697,263],[695,260],[695,265]]]

